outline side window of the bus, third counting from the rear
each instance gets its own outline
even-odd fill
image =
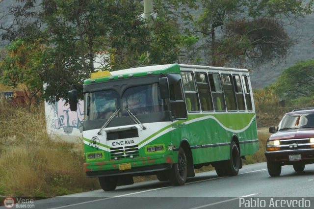
[[[222,87],[224,89],[227,110],[237,110],[235,91],[231,75],[222,75]]]

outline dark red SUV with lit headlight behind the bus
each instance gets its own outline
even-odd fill
[[[280,176],[282,165],[293,165],[296,172],[314,163],[314,107],[285,114],[267,140],[265,156],[270,176]]]

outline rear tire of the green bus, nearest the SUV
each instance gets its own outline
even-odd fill
[[[226,161],[225,167],[227,175],[236,176],[239,173],[241,162],[239,148],[235,141],[232,141],[230,146],[230,159]]]

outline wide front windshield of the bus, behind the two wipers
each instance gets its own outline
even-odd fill
[[[132,86],[127,88],[120,98],[115,90],[104,90],[85,94],[86,119],[108,119],[116,109],[121,109],[119,115],[128,116],[126,107],[132,114],[150,114],[163,110],[162,99],[158,91],[158,84]]]

